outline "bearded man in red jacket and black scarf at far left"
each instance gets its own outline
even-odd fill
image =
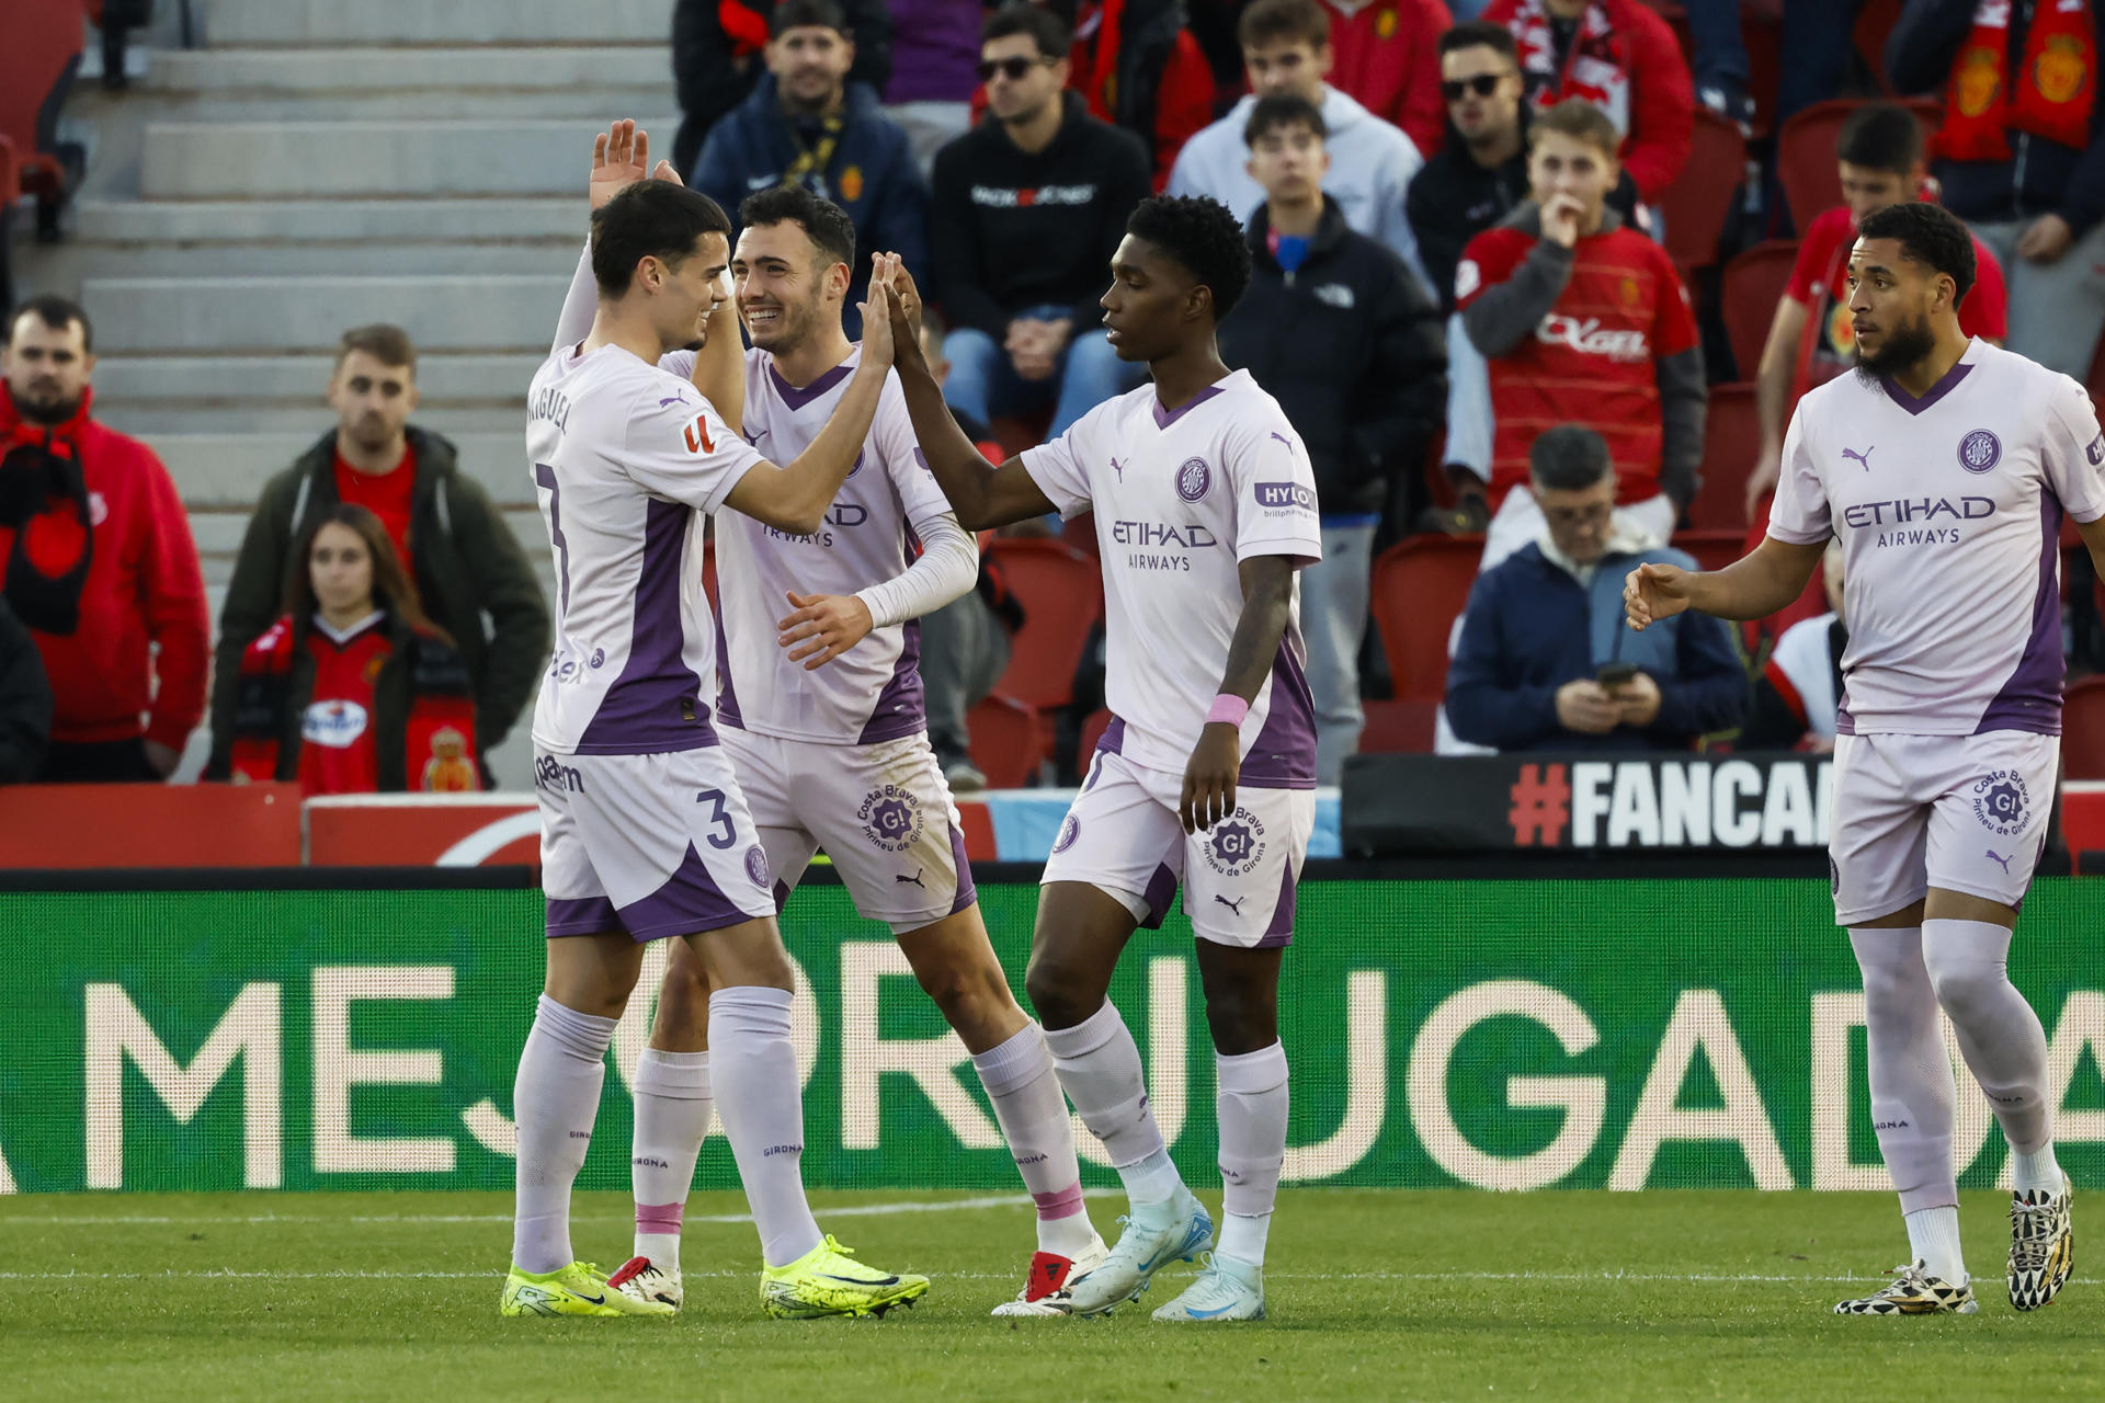
[[[23,303],[0,349],[0,570],[51,675],[44,780],[162,780],[204,715],[198,547],[154,450],[88,414],[95,330]]]

